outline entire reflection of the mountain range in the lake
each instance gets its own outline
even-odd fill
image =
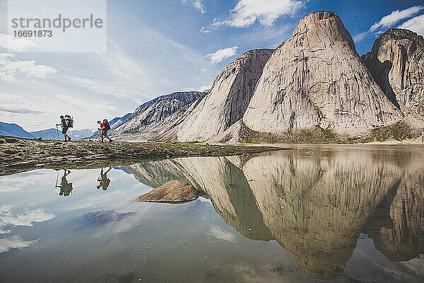
[[[361,232],[390,260],[423,253],[421,153],[278,151],[177,158],[129,170],[152,187],[175,179],[192,183],[242,235],[275,239],[319,279],[343,270]]]

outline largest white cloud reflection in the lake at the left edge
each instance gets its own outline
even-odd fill
[[[33,226],[33,223],[54,219],[55,215],[46,213],[44,209],[27,210],[22,214],[13,215],[10,205],[0,207],[0,233],[10,233],[10,230],[2,230],[6,225]]]

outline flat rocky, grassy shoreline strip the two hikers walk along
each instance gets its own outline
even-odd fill
[[[55,141],[0,136],[0,175],[40,168],[73,169],[124,166],[186,156],[230,156],[281,150],[273,146],[195,143]]]

